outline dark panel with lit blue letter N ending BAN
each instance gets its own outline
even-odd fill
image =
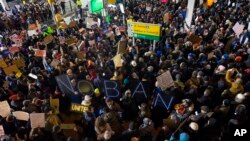
[[[169,95],[169,94],[165,94],[162,91],[159,91],[156,94],[156,97],[154,98],[154,102],[153,102],[153,107],[162,107],[165,108],[166,110],[169,110],[172,106],[172,103],[174,101],[174,97]]]

